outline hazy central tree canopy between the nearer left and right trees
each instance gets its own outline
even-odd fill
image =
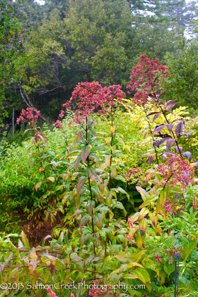
[[[32,0],[14,2],[20,21],[32,27],[32,39],[20,55],[26,77],[7,90],[6,98],[18,111],[38,107],[44,118],[57,118],[61,104],[81,81],[103,86],[129,82],[139,56],[178,55],[197,13],[196,2],[176,0]],[[18,112],[16,111],[16,112]]]

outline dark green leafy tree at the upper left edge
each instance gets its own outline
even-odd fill
[[[11,17],[12,9],[7,9],[4,1],[0,1],[0,121],[6,115],[3,101],[5,88],[20,81],[24,74],[25,58],[19,56],[24,48],[28,30],[24,23]]]

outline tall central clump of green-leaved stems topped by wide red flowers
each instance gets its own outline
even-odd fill
[[[126,182],[118,174],[115,161],[118,157],[126,159],[124,150],[127,147],[118,129],[124,97],[118,85],[102,88],[98,82],[78,84],[60,113],[60,118],[63,118],[65,112],[73,109],[75,102],[77,109],[74,118],[68,124],[65,124],[65,119],[54,123],[62,136],[58,153],[55,148],[49,148],[44,134],[40,132],[40,135],[36,135],[37,119],[29,114],[27,117],[28,110],[23,111],[18,120],[27,121],[34,132],[29,147],[30,164],[41,172],[41,180],[35,185],[35,190],[46,187],[46,195],[40,201],[44,203],[47,200],[49,203],[46,219],[50,214],[51,218],[57,216],[60,222],[53,230],[53,235],[59,236],[59,239],[52,241],[51,250],[42,244],[47,254],[38,259],[38,269],[36,264],[35,270],[29,269],[35,279],[40,277],[39,269],[44,267],[42,269],[49,269],[51,278],[54,275],[61,284],[105,282],[107,294],[112,293],[110,288],[113,282],[122,280],[123,262],[119,255],[128,245],[137,245],[135,239],[131,241],[126,235],[133,224],[128,226],[125,220],[127,212],[117,197],[119,192],[128,198],[129,195],[114,183],[115,180]],[[120,212],[118,218],[115,217],[116,208]],[[140,270],[144,269],[140,264],[141,257],[133,260],[138,253],[139,250],[126,259],[125,278],[128,274],[131,277],[133,270],[133,278],[145,283],[144,271]],[[66,269],[67,273],[56,274],[56,270],[60,269]],[[47,291],[53,296],[58,293],[55,290]],[[100,291],[97,291],[98,295],[103,294]],[[77,291],[77,294],[84,293],[83,287]],[[96,292],[91,290],[91,293]],[[64,296],[62,291],[59,294]]]

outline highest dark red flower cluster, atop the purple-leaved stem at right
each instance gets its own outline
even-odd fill
[[[146,54],[140,57],[139,65],[133,68],[131,80],[127,86],[130,89],[128,93],[139,91],[133,97],[134,105],[145,104],[148,96],[157,100],[153,90],[156,87],[160,89],[164,80],[170,76],[167,69],[167,66],[159,65],[158,58],[150,60]]]

